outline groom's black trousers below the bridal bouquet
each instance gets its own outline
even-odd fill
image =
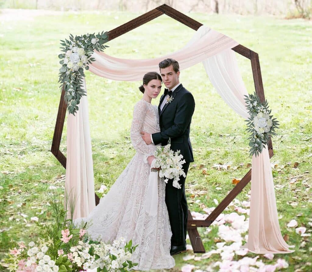
[[[189,162],[183,164],[182,169],[185,175],[188,173],[189,166]],[[178,183],[181,185],[181,189],[172,186],[173,180],[168,180],[166,184],[165,201],[172,231],[171,245],[175,246],[184,245],[186,240],[188,203],[186,201],[184,189],[185,179],[186,177],[180,176]]]

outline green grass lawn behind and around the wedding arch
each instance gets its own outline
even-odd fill
[[[14,245],[36,236],[34,218],[51,218],[49,187],[64,194],[65,169],[50,152],[60,101],[58,89],[59,40],[73,35],[109,31],[139,16],[129,12],[64,13],[33,20],[1,21],[0,29],[0,260]],[[1,15],[0,15],[1,16]],[[264,91],[272,114],[280,122],[272,139],[273,176],[282,235],[295,245],[292,254],[275,255],[289,263],[287,271],[311,271],[311,237],[301,237],[287,223],[312,232],[312,24],[302,19],[189,14],[203,24],[232,37],[257,52]],[[0,17],[1,18],[1,17]],[[108,42],[106,53],[121,58],[153,58],[174,52],[194,31],[165,15]],[[250,61],[237,54],[247,90],[254,92]],[[148,72],[148,71],[147,71]],[[181,71],[180,81],[193,93],[191,126],[195,162],[188,172],[186,193],[190,210],[216,206],[241,179],[251,158],[245,122],[212,87],[202,64]],[[142,94],[141,82],[118,82],[86,72],[95,189],[114,183],[135,151],[129,139],[133,107]],[[159,96],[160,97],[160,96]],[[157,104],[159,101],[152,101]],[[84,98],[83,98],[84,99]],[[66,155],[66,121],[61,141]],[[218,171],[214,164],[230,164]],[[297,165],[298,163],[298,165]],[[207,168],[203,174],[202,167]],[[222,190],[217,190],[221,187]],[[200,194],[201,190],[207,193]],[[247,200],[250,184],[237,196]],[[230,209],[231,210],[231,209]],[[32,219],[31,219],[32,218]],[[216,231],[200,229],[206,251],[215,248]],[[305,243],[302,243],[304,242]],[[301,246],[300,246],[301,245]],[[255,257],[255,254],[246,256]],[[200,269],[219,255],[195,262],[175,257],[176,268],[186,263]],[[259,259],[270,263],[263,256]],[[0,270],[5,268],[1,268]],[[298,270],[299,269],[299,270]],[[285,270],[285,271],[286,271]]]

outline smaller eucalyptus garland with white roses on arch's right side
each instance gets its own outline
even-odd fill
[[[246,95],[245,95],[246,96]],[[268,102],[261,103],[256,92],[249,94],[244,98],[246,101],[246,108],[250,117],[245,120],[247,123],[247,131],[251,132],[248,137],[250,146],[250,156],[256,156],[262,152],[263,147],[267,144],[271,135],[276,135],[275,129],[279,128],[279,123],[276,118],[272,119],[273,115],[269,110]]]

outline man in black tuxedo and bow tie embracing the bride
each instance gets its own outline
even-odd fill
[[[195,108],[193,95],[179,82],[179,63],[168,58],[159,63],[160,74],[165,89],[160,97],[158,106],[159,126],[158,133],[149,134],[142,132],[143,140],[147,145],[161,143],[168,144],[170,138],[171,149],[180,150],[186,163],[183,164],[185,175],[188,173],[190,162],[193,162],[193,150],[191,146],[190,126]],[[151,156],[152,157],[152,156]],[[188,204],[184,189],[185,178],[180,176],[181,189],[173,187],[173,180],[166,184],[165,201],[171,225],[171,249],[170,254],[175,255],[186,251],[186,230],[188,223]]]

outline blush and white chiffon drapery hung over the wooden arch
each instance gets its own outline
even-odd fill
[[[95,62],[89,71],[101,77],[140,81],[144,74],[158,71],[158,63],[171,57],[179,62],[180,70],[202,62],[207,75],[222,99],[244,119],[249,117],[244,95],[247,90],[242,80],[235,52],[231,48],[239,43],[201,26],[192,39],[180,50],[155,59],[129,60],[94,52]],[[84,82],[85,87],[85,82]],[[66,188],[80,195],[74,219],[86,217],[95,207],[93,161],[87,108],[87,96],[81,98],[76,116],[67,121]],[[260,156],[252,157],[251,204],[248,241],[242,248],[257,254],[290,253],[280,232],[275,200],[273,176],[267,146]]]

